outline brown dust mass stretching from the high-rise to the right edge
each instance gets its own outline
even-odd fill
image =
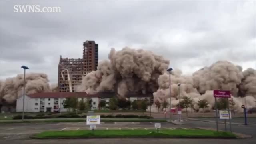
[[[154,101],[169,102],[169,74],[166,72],[169,60],[150,51],[123,48],[116,51],[112,48],[105,60],[98,65],[98,70],[86,75],[78,87],[80,92],[89,94],[116,90],[119,97],[130,92],[138,94],[153,93]],[[180,85],[180,95],[178,84]],[[230,90],[236,103],[234,108],[242,111],[245,103],[248,108],[256,105],[256,70],[248,68],[242,71],[228,61],[218,61],[192,74],[183,76],[180,70],[171,72],[171,101],[175,107],[179,98],[191,97],[196,102],[206,99],[211,110],[214,106],[212,90]],[[246,96],[246,98],[244,98]],[[153,106],[154,107],[154,106]]]

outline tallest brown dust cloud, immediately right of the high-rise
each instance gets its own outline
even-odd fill
[[[90,94],[107,90],[117,90],[120,97],[127,92],[146,94],[158,89],[158,77],[166,71],[169,61],[162,56],[145,50],[112,48],[98,70],[87,74],[78,87],[80,92]]]

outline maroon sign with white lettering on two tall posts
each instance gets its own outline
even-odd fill
[[[215,108],[216,108],[216,127],[218,132],[218,107],[217,107],[217,98],[230,98],[231,92],[229,90],[213,90],[213,96],[215,98]],[[230,117],[230,110],[229,110],[229,102],[228,102],[228,118],[229,118],[229,124],[230,124],[230,132],[232,132],[231,129],[231,117]],[[220,118],[221,119],[221,118]],[[226,122],[226,121],[225,121]],[[226,126],[226,125],[225,125]]]

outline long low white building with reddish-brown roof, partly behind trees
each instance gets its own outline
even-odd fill
[[[98,110],[100,100],[106,101],[106,108],[110,98],[114,97],[114,92],[99,92],[96,94],[87,94],[86,92],[42,92],[25,95],[24,112],[67,112],[68,109],[63,108],[63,102],[66,98],[76,97],[80,100],[92,100],[92,110]],[[126,99],[133,102],[134,100],[143,100],[148,98],[150,102],[153,101],[152,94],[127,95]],[[16,101],[16,112],[22,112],[23,96]]]

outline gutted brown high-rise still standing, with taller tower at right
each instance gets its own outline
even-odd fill
[[[76,86],[81,84],[82,77],[98,67],[98,44],[86,41],[83,44],[83,58],[62,58],[58,65],[58,91],[76,92]],[[62,78],[63,75],[63,78]]]

